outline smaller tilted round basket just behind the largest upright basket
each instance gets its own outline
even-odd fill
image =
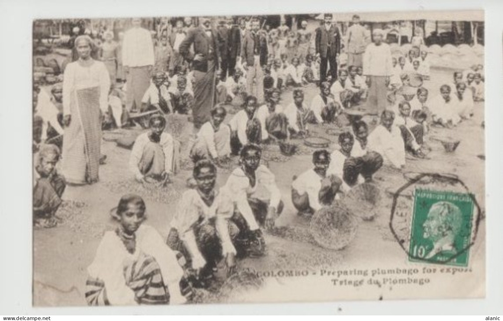
[[[343,201],[353,215],[371,221],[377,214],[381,191],[374,184],[362,183],[352,188]]]

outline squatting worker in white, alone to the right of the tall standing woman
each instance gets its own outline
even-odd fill
[[[129,169],[138,182],[145,178],[169,182],[179,162],[180,143],[164,132],[166,119],[153,115],[149,120],[150,130],[139,135],[129,156]]]

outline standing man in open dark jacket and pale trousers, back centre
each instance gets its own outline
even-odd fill
[[[241,60],[248,66],[246,75],[246,89],[249,95],[257,97],[258,103],[264,103],[264,70],[262,67],[267,63],[267,39],[258,31],[260,23],[257,20],[251,22],[251,30],[246,30],[241,45]],[[257,90],[254,91],[255,79]]]

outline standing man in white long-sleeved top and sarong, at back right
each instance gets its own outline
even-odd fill
[[[374,43],[367,46],[363,56],[363,74],[367,76],[369,87],[368,106],[376,115],[386,109],[387,88],[392,74],[391,49],[382,42],[383,31],[375,29]]]

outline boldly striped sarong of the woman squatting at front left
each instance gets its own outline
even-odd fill
[[[138,304],[168,304],[170,294],[164,285],[157,261],[140,254],[133,263],[124,267],[126,285],[134,291]],[[105,283],[97,278],[86,282],[86,300],[89,305],[110,305]]]

